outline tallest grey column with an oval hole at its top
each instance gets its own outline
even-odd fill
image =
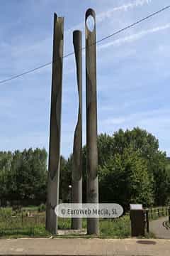
[[[87,146],[87,203],[98,203],[98,149],[96,97],[96,14],[86,11],[85,21],[94,18],[94,30],[86,22],[86,146]],[[98,234],[98,218],[87,218],[87,233]]]

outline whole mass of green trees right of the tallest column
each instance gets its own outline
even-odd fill
[[[85,190],[86,146],[83,148],[83,174]],[[120,129],[113,136],[98,135],[98,177],[102,202],[115,202],[116,191],[119,195],[125,191],[125,197],[120,195],[119,201],[126,206],[129,201],[140,201],[147,206],[164,205],[170,201],[170,171],[166,171],[166,154],[159,150],[158,139],[139,127],[126,131]],[[123,187],[123,181],[128,185]],[[140,186],[136,194],[137,183]],[[129,201],[125,203],[127,197]]]

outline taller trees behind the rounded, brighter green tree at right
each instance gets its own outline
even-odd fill
[[[125,132],[120,129],[113,136],[107,134],[98,136],[98,176],[100,183],[104,182],[103,179],[100,179],[101,169],[104,168],[106,170],[109,161],[113,161],[117,155],[123,156],[126,149],[136,152],[137,158],[140,159],[139,161],[145,161],[149,188],[154,194],[154,205],[166,203],[170,198],[169,179],[165,169],[166,154],[159,150],[158,139],[139,127],[132,130],[127,129]],[[86,146],[83,148],[83,174],[84,188],[86,188]],[[99,191],[99,193],[102,192]],[[86,198],[86,195],[84,197]]]

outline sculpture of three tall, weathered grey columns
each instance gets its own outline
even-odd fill
[[[94,29],[90,31],[86,22],[86,161],[87,203],[98,203],[98,149],[97,149],[97,97],[96,97],[96,14],[86,11],[85,21],[92,16]],[[50,113],[50,154],[47,183],[46,229],[57,233],[55,207],[59,203],[60,185],[60,136],[62,111],[62,60],[64,18],[54,16],[54,38],[52,57],[52,92]],[[77,64],[79,92],[79,114],[74,133],[72,203],[82,201],[82,53],[81,31],[74,31],[73,44]],[[81,228],[81,218],[72,218],[72,228]],[[87,233],[98,234],[98,218],[87,218]]]

